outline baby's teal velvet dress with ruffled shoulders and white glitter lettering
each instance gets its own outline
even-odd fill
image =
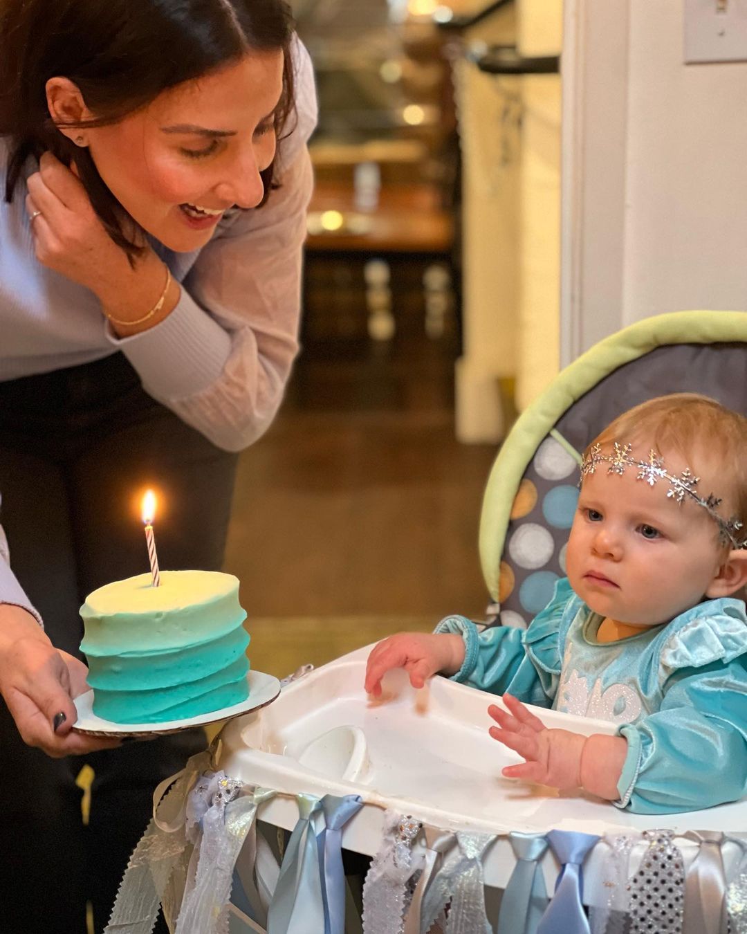
[[[597,642],[602,616],[557,582],[527,630],[460,633],[454,680],[525,703],[617,724],[627,757],[614,803],[638,814],[696,811],[747,795],[747,616],[744,602],[698,603],[666,625]]]

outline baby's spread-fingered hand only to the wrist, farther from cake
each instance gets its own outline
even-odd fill
[[[510,694],[503,703],[511,713],[491,704],[487,713],[499,724],[489,729],[494,740],[514,749],[527,761],[503,769],[506,778],[523,778],[538,785],[571,790],[582,785],[581,757],[586,737],[567,729],[546,729],[542,720]]]

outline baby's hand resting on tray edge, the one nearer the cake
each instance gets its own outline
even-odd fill
[[[422,687],[436,672],[456,674],[464,661],[461,636],[443,633],[399,632],[373,646],[366,666],[366,690],[381,695],[381,679],[393,668],[403,668],[413,687]]]

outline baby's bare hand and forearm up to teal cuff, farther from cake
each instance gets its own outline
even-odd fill
[[[503,703],[510,713],[495,705],[487,708],[499,724],[490,728],[490,735],[526,759],[522,765],[506,766],[506,778],[523,778],[561,790],[581,787],[599,798],[619,799],[617,783],[627,756],[625,739],[546,729],[542,720],[510,694],[503,695]]]

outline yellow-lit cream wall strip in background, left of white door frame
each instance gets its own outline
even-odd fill
[[[561,33],[562,0],[520,0],[468,40],[557,55]],[[558,370],[560,81],[498,78],[466,61],[457,78],[464,256],[457,435],[494,442],[506,429],[499,381],[514,381],[524,408]]]

